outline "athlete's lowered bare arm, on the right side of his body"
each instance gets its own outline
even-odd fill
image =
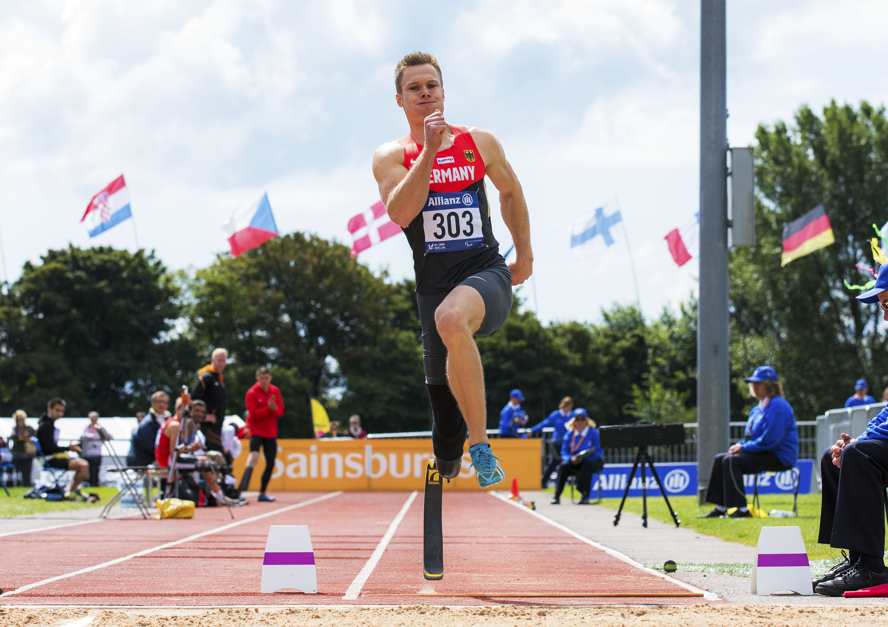
[[[503,147],[493,133],[472,129],[472,139],[484,159],[490,182],[500,194],[500,211],[503,222],[515,243],[515,260],[509,264],[511,284],[520,285],[534,271],[534,252],[530,248],[530,215],[527,202],[515,171],[506,161]]]

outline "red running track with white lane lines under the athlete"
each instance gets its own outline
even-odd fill
[[[235,520],[289,511],[224,528],[222,508],[192,520],[104,520],[4,538],[0,603],[8,605],[219,606],[344,604],[440,605],[527,603],[613,605],[699,603],[701,597],[480,598],[411,596],[343,599],[408,492],[285,493],[276,503],[234,510]],[[321,500],[319,500],[321,497]],[[310,503],[308,503],[310,502]],[[485,493],[444,495],[443,580],[423,578],[423,497],[417,495],[361,595],[535,594],[563,592],[687,593],[534,516]],[[308,525],[318,593],[259,594],[270,525]],[[214,529],[223,528],[214,532]],[[208,535],[191,538],[205,532]],[[182,540],[186,542],[181,542]],[[177,543],[163,547],[164,544]],[[158,548],[161,547],[161,548]],[[134,553],[145,552],[136,557]],[[106,565],[107,562],[120,560]],[[129,559],[126,559],[129,558]],[[88,572],[77,573],[85,568]],[[53,577],[62,577],[56,581]]]

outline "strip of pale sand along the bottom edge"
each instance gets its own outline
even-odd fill
[[[841,599],[840,602],[844,602]],[[576,627],[596,624],[710,625],[864,625],[884,622],[888,607],[790,607],[701,604],[686,607],[180,607],[98,609],[0,607],[4,627],[55,626],[93,616],[87,627],[469,627],[470,625],[547,625]]]

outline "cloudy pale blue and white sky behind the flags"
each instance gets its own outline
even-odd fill
[[[728,2],[728,136],[803,103],[882,104],[888,4]],[[655,316],[695,290],[663,236],[698,205],[699,3],[690,0],[38,1],[0,5],[0,233],[11,280],[51,248],[135,250],[129,222],[78,224],[120,173],[139,243],[173,269],[227,250],[221,225],[268,193],[281,232],[350,243],[369,167],[407,131],[392,69],[438,55],[452,123],[493,131],[527,195],[545,320],[635,300],[626,246],[592,258],[568,228],[614,197]],[[881,42],[881,43],[880,43]],[[495,207],[495,232],[511,236]],[[361,254],[394,279],[406,240]],[[521,291],[535,306],[530,282]]]

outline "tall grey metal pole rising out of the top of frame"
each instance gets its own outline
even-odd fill
[[[725,0],[700,12],[700,302],[697,310],[697,496],[728,444],[727,90]]]

